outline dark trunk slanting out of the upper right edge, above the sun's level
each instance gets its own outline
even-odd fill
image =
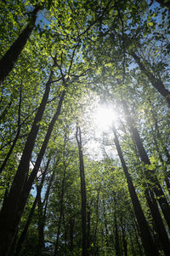
[[[139,56],[133,52],[133,50],[129,50],[128,54],[133,56],[134,61],[138,63],[140,70],[149,79],[150,84],[152,84],[152,86],[161,94],[161,96],[165,97],[167,104],[170,107],[170,91],[165,88],[165,85],[162,83],[161,79],[156,79],[153,73],[144,67],[143,62],[140,60]]]

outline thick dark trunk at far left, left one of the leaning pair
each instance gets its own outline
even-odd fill
[[[31,153],[34,148],[35,140],[39,130],[39,122],[42,119],[46,104],[48,102],[48,95],[50,91],[50,82],[52,80],[53,71],[51,71],[48,83],[46,84],[45,92],[42,96],[42,102],[37,110],[35,119],[31,126],[31,131],[27,137],[25,148],[20,159],[18,170],[14,176],[11,189],[8,197],[3,201],[3,207],[0,213],[0,254],[8,255],[8,251],[14,240],[14,235],[20,222],[23,211],[19,211],[21,197],[24,193],[23,189],[26,187],[26,179],[29,172]]]

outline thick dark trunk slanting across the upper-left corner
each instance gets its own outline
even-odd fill
[[[22,49],[24,49],[27,40],[30,38],[31,32],[37,20],[37,12],[39,10],[40,8],[38,7],[33,10],[31,13],[31,20],[27,24],[26,28],[20,33],[20,36],[14,41],[14,44],[11,45],[6,54],[3,55],[3,58],[0,61],[0,84],[13,69]]]

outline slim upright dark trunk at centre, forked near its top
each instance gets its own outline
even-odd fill
[[[82,197],[82,256],[88,255],[88,242],[87,242],[87,216],[86,216],[86,183],[84,175],[84,163],[82,154],[82,134],[81,129],[77,126],[76,132],[78,152],[79,152],[79,163],[80,163],[80,178],[81,178],[81,197]]]

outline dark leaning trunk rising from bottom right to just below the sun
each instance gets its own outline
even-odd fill
[[[113,132],[114,132],[114,136],[115,136],[116,150],[117,150],[117,153],[118,153],[119,158],[122,163],[123,172],[125,173],[125,176],[127,178],[128,191],[129,191],[132,203],[133,203],[133,209],[135,212],[135,216],[136,216],[138,224],[139,224],[139,230],[140,230],[141,240],[142,240],[142,243],[144,246],[144,251],[145,251],[146,255],[148,255],[148,256],[149,255],[152,256],[153,254],[159,255],[158,251],[156,250],[156,246],[154,244],[152,236],[150,235],[149,225],[144,217],[144,212],[140,206],[139,198],[134,189],[132,178],[129,175],[127,165],[123,158],[122,149],[120,147],[119,140],[118,140],[118,137],[116,134],[116,129],[114,126],[113,126]]]

